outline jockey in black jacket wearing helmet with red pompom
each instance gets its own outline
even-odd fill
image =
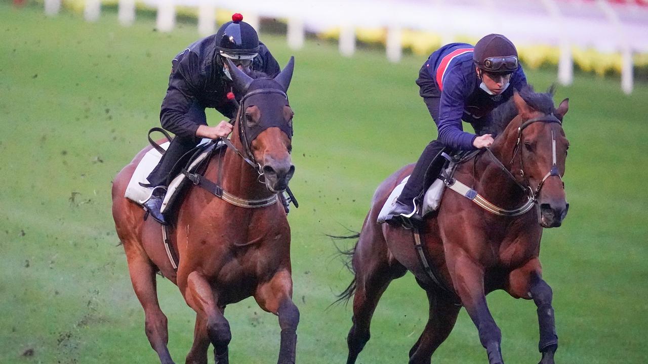
[[[232,125],[227,121],[221,121],[217,126],[207,126],[205,117],[205,108],[214,108],[228,118],[235,117],[237,112],[233,102],[227,99],[227,93],[234,90],[224,58],[229,58],[246,73],[261,71],[274,77],[281,71],[277,60],[259,41],[254,28],[242,20],[241,14],[234,14],[232,21],[222,25],[216,34],[192,43],[171,62],[160,122],[176,137],[148,175],[152,194],[144,203],[157,222],[166,224],[160,207],[168,175],[176,161],[194,148],[200,139],[227,137],[232,131]],[[236,95],[236,98],[242,96]]]

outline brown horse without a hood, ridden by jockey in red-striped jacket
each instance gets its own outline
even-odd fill
[[[457,167],[454,178],[502,210],[516,210],[529,199],[535,199],[537,209],[500,216],[446,189],[438,214],[424,220],[420,229],[422,250],[441,283],[435,284],[415,253],[413,231],[376,223],[391,190],[411,173],[413,165],[386,179],[373,196],[358,243],[349,252],[355,277],[341,295],[341,299],[354,295],[347,364],[355,363],[369,340],[369,324],[380,296],[391,280],[407,270],[426,290],[430,303],[428,323],[410,350],[411,364],[430,364],[432,354],[454,327],[461,306],[478,328],[489,363],[502,364],[502,335],[485,299],[494,290],[535,301],[540,363],[554,363],[558,337],[552,292],[542,280],[538,255],[542,227],[560,226],[568,208],[561,178],[568,148],[561,120],[568,100],[554,109],[551,95],[531,89],[520,92],[496,110],[504,114],[500,119],[505,125],[491,152],[500,162],[487,153],[478,154]]]

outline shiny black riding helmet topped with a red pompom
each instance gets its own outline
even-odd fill
[[[257,31],[243,21],[241,14],[234,14],[232,21],[223,24],[214,38],[216,54],[235,60],[251,59],[259,53]]]

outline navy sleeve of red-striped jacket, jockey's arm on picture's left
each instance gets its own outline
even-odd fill
[[[457,150],[473,150],[475,147],[472,141],[477,137],[472,133],[463,131],[461,118],[463,117],[466,82],[463,74],[448,70],[441,91],[441,103],[439,104],[439,141]]]

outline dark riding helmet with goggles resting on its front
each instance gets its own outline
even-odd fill
[[[492,74],[509,74],[518,69],[518,51],[502,34],[489,34],[474,47],[472,60],[481,71]]]

